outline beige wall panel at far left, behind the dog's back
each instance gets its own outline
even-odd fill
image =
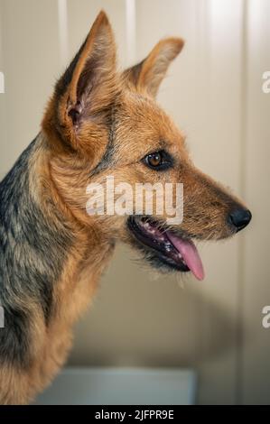
[[[2,0],[5,120],[0,171],[40,131],[43,107],[59,73],[59,35],[55,0]]]

